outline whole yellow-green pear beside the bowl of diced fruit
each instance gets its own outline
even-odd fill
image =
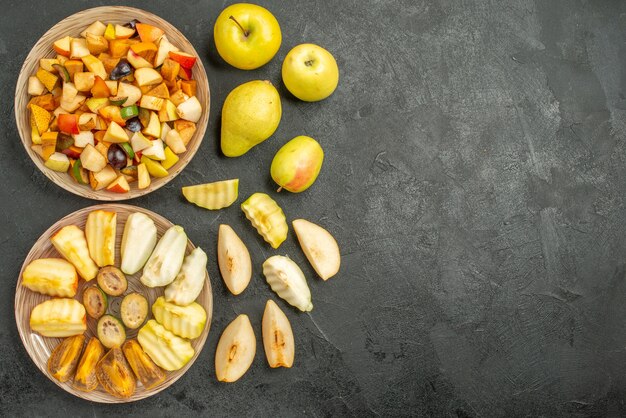
[[[222,107],[222,152],[239,157],[272,136],[282,115],[280,96],[267,80],[236,87]]]

